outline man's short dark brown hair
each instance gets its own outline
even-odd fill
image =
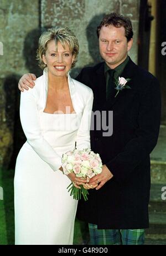
[[[100,36],[100,30],[103,26],[107,27],[112,25],[114,27],[124,27],[125,28],[125,36],[127,38],[127,42],[131,40],[133,37],[133,29],[131,20],[127,17],[124,17],[122,14],[117,14],[115,12],[107,14],[103,17],[100,25],[97,27],[97,37]]]

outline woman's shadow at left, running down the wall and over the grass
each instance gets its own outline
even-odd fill
[[[23,49],[23,58],[25,59],[27,70],[35,73],[37,76],[42,74],[42,70],[39,69],[38,61],[36,60],[40,33],[40,29],[30,31],[25,37]],[[10,136],[2,164],[2,185],[4,192],[6,191],[3,202],[6,213],[8,244],[14,244],[14,172],[11,169],[15,168],[15,160],[17,159],[18,152],[26,140],[19,117],[20,91],[18,90],[18,81],[20,75],[11,73],[4,79],[3,83],[4,97],[6,99],[5,115],[7,120],[7,127],[4,127],[4,129],[9,131]]]

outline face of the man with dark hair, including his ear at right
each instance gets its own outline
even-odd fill
[[[124,27],[117,28],[109,25],[101,28],[99,36],[100,55],[108,67],[116,68],[125,61],[132,42],[132,39],[127,42]]]

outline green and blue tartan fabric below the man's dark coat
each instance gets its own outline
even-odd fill
[[[89,223],[91,245],[141,245],[144,244],[144,229],[97,229]]]

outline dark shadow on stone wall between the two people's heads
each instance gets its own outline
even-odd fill
[[[97,26],[100,24],[100,21],[103,18],[103,16],[105,16],[105,13],[101,13],[99,15],[94,16],[90,20],[88,26],[86,27],[86,39],[88,43],[87,55],[90,55],[90,57],[92,58],[92,62],[89,62],[85,66],[79,68],[73,68],[70,72],[71,77],[76,77],[77,75],[79,75],[83,67],[92,67],[97,63],[103,61],[98,50],[98,38],[96,33]],[[81,45],[81,42],[79,43]]]

